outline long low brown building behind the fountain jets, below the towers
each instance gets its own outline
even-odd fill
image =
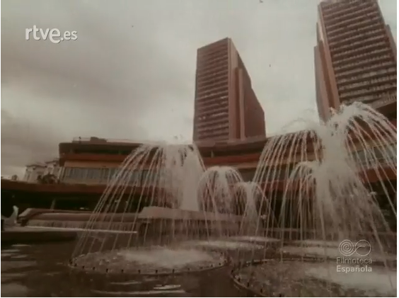
[[[393,120],[393,125],[396,125],[395,120]],[[292,140],[292,138],[288,139]],[[356,143],[358,141],[354,139],[352,141],[354,141],[352,150],[357,156],[359,164],[359,176],[367,181],[368,187],[375,193],[384,193],[384,188],[393,190],[389,185],[396,185],[396,171],[391,166],[384,166],[382,159],[386,158],[386,154],[381,154],[381,152],[386,149],[389,152],[396,152],[396,144],[388,144],[386,146],[389,148],[381,149],[381,143],[371,139],[371,147],[364,151],[364,148],[360,148]],[[268,142],[270,139],[255,138],[245,142],[203,142],[198,143],[197,147],[205,167],[231,166],[241,173],[243,180],[250,181],[254,178],[262,158],[262,150]],[[318,154],[314,144],[315,139],[306,139],[306,144],[303,144],[303,146],[306,145],[305,154],[308,161],[314,160]],[[140,145],[139,143],[98,138],[79,138],[72,142],[61,143],[59,144],[59,183],[37,184],[2,180],[1,191],[15,194],[21,211],[25,207],[94,210],[112,176],[117,173],[127,156]],[[284,148],[286,152],[279,150],[279,158],[262,161],[262,169],[272,173],[264,176],[260,181],[266,197],[284,197],[284,192],[287,191],[287,179],[292,169],[299,161],[303,161],[303,147],[287,144]],[[275,150],[277,151],[277,149]],[[367,156],[369,154],[376,156],[378,166],[368,164]],[[393,156],[390,157],[391,160],[392,158]],[[364,166],[365,164],[366,166]],[[154,185],[144,183],[151,175],[149,169],[149,164],[142,164],[140,168],[135,169],[135,172],[132,173],[132,180],[129,180],[121,193],[120,200],[125,200],[123,196],[135,198],[136,196],[140,197],[143,193],[158,191],[154,190]],[[384,183],[388,186],[384,186]],[[289,191],[297,190],[298,185],[294,185]],[[395,197],[395,193],[390,195]],[[152,195],[152,197],[156,196]]]

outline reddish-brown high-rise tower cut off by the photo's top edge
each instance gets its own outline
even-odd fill
[[[376,0],[325,0],[318,5],[314,49],[320,118],[354,101],[396,117],[396,45]],[[392,115],[388,115],[391,117]]]

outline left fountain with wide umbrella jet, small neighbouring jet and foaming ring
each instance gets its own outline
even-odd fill
[[[194,145],[142,145],[100,198],[71,265],[141,275],[224,265],[221,253],[245,246],[228,241],[242,227],[231,191],[240,182],[240,173],[231,167],[205,171]],[[251,218],[256,220],[254,214]]]

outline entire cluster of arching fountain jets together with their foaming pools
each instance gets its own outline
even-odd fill
[[[301,121],[306,130],[267,140],[251,182],[205,169],[193,145],[142,145],[105,190],[71,266],[185,273],[224,265],[233,249],[233,280],[260,296],[392,295],[396,128],[362,103]]]

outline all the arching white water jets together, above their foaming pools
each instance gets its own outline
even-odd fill
[[[299,121],[306,130],[267,140],[250,183],[231,167],[205,170],[195,146],[139,147],[108,185],[74,255],[233,235],[278,238],[282,246],[299,240],[303,249],[321,241],[325,257],[333,241],[364,239],[386,253],[397,218],[396,128],[362,103],[332,110],[327,122]],[[98,224],[131,233],[93,236]]]

